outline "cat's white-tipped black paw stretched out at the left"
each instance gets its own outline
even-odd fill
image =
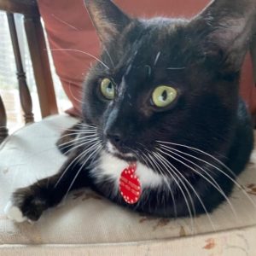
[[[15,222],[34,222],[41,217],[47,202],[36,195],[32,189],[18,189],[4,209],[6,216]]]

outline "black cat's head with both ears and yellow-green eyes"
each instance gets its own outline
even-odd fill
[[[229,148],[253,2],[216,0],[192,20],[141,20],[112,1],[85,0],[102,55],[84,84],[83,114],[105,150],[143,161],[160,142]]]

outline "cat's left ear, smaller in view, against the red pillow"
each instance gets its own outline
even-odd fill
[[[110,0],[84,0],[84,3],[102,44],[112,41],[131,23],[130,17]]]

